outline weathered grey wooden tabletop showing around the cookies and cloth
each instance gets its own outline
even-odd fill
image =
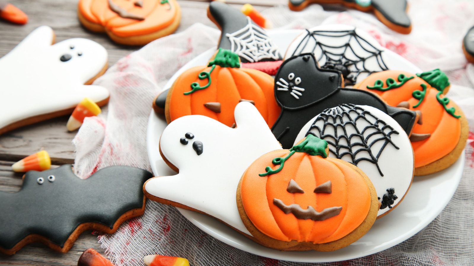
[[[81,37],[102,44],[109,52],[109,66],[115,64],[123,56],[141,48],[115,44],[105,34],[95,34],[86,30],[77,19],[77,0],[10,0],[10,2],[23,10],[28,15],[29,21],[23,26],[0,21],[0,57],[7,54],[36,27],[42,25],[53,28],[56,42]],[[208,1],[178,0],[178,2],[182,9],[182,19],[176,32],[185,30],[195,22],[216,27],[206,15]],[[286,4],[286,0],[232,0],[228,2],[239,9],[242,4],[248,2],[259,10],[275,4]],[[66,130],[68,118],[69,115],[50,119],[0,136],[0,191],[19,190],[23,173],[13,172],[11,165],[37,151],[48,151],[53,167],[74,163],[72,140],[77,132]],[[77,265],[77,260],[87,248],[104,252],[97,243],[97,236],[92,235],[91,231],[85,231],[68,253],[58,253],[43,244],[32,243],[12,256],[0,253],[0,265]]]

